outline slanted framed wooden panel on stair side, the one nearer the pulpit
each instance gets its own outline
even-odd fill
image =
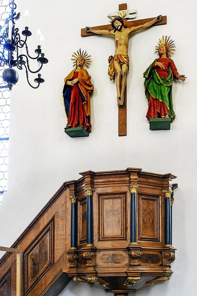
[[[54,260],[54,220],[37,235],[24,252],[25,294],[41,280]]]

